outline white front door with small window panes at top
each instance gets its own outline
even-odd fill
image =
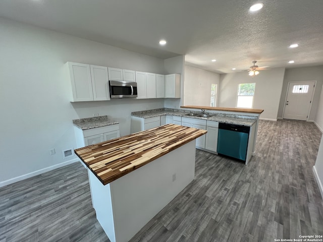
[[[313,99],[315,81],[290,82],[283,118],[307,120]]]

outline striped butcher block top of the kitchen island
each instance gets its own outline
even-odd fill
[[[76,149],[75,154],[106,185],[204,134],[168,124]]]

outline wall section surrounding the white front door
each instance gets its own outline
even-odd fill
[[[280,99],[280,104],[278,109],[278,117],[280,118],[283,117],[283,110],[285,106],[285,98],[286,98],[288,83],[304,82],[304,81],[317,81],[312,108],[308,117],[309,120],[315,119],[315,115],[318,110],[317,105],[318,105],[319,95],[321,92],[320,87],[323,84],[323,66],[286,69],[283,89],[282,89],[282,96]]]

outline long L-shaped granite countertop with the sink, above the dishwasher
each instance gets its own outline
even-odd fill
[[[159,109],[152,109],[152,110],[146,110],[146,111],[132,112],[131,115],[135,117],[141,117],[141,118],[172,115],[172,116],[181,116],[181,117],[189,117],[189,118],[198,118],[198,119],[216,121],[220,123],[243,125],[243,126],[252,126],[257,121],[257,117],[248,116],[248,115],[219,114],[219,113],[210,113],[210,112],[209,113],[206,112],[207,114],[212,115],[211,117],[208,117],[208,118],[185,115],[191,112],[200,113],[200,112],[193,112],[191,110],[185,110],[185,109],[159,108]]]

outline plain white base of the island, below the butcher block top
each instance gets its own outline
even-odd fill
[[[194,173],[195,140],[105,186],[89,171],[97,220],[112,242],[126,242],[194,179]]]

